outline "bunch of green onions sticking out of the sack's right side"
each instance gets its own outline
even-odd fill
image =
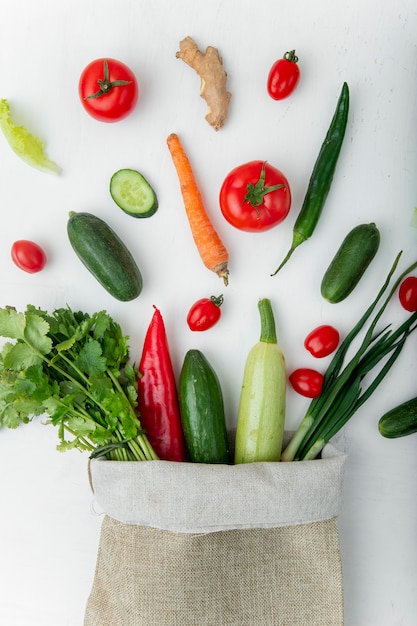
[[[391,324],[382,329],[378,329],[377,326],[398,285],[404,276],[417,267],[417,262],[395,280],[385,300],[371,319],[372,313],[390,287],[400,257],[401,252],[397,255],[376,298],[334,354],[324,375],[322,393],[311,401],[297,431],[282,453],[283,461],[316,458],[325,444],[339,432],[381,384],[401,354],[407,338],[416,330],[417,312],[412,313],[395,329],[391,328]],[[358,335],[362,329],[366,331],[360,341]],[[359,341],[359,347],[348,358],[349,348],[354,342],[356,344],[355,340]],[[381,366],[376,371],[379,363]],[[373,378],[366,386],[371,373],[373,373]]]

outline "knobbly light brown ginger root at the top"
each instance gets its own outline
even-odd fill
[[[205,119],[214,130],[219,130],[226,122],[232,96],[226,88],[227,74],[219,51],[208,46],[203,54],[191,37],[185,37],[180,41],[176,57],[182,59],[200,76],[200,96],[208,107]]]

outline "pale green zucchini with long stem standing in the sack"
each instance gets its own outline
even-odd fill
[[[247,357],[240,393],[235,463],[279,461],[286,410],[285,358],[271,301],[258,303],[261,334]]]

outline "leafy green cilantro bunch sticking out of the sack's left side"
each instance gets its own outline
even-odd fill
[[[127,337],[105,311],[48,314],[0,308],[0,426],[48,415],[58,450],[78,448],[119,461],[153,460],[138,419],[138,372]]]

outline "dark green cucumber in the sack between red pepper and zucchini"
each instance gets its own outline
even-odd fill
[[[190,460],[194,463],[229,463],[220,382],[199,350],[189,350],[185,355],[178,397]]]

